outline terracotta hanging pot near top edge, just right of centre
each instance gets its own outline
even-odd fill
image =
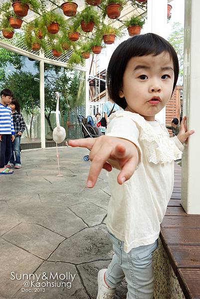
[[[123,9],[123,5],[126,4],[126,0],[106,0],[103,7],[106,7],[106,13],[109,18],[118,18]]]

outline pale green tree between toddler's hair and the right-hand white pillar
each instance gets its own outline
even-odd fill
[[[179,22],[174,22],[172,25],[172,32],[168,38],[168,41],[175,48],[180,66],[180,76],[183,80],[184,75],[184,28]]]

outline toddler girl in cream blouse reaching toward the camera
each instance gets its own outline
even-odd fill
[[[174,160],[194,133],[187,132],[186,117],[174,138],[155,120],[171,98],[178,74],[177,54],[164,38],[147,33],[122,42],[109,62],[107,85],[125,111],[111,116],[106,136],[69,142],[91,149],[88,187],[102,168],[112,170],[107,227],[115,254],[108,269],[98,273],[97,299],[113,298],[124,277],[127,299],[153,298],[152,253],[173,190]]]

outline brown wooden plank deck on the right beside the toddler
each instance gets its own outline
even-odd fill
[[[181,206],[181,166],[175,163],[175,184],[161,224],[161,240],[186,299],[200,299],[200,215]]]

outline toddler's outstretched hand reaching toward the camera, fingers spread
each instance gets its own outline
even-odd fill
[[[134,173],[139,160],[138,149],[130,141],[100,136],[98,138],[86,138],[70,140],[71,147],[91,149],[89,159],[92,161],[87,179],[87,187],[94,187],[102,168],[112,170],[112,166],[120,169],[117,181],[123,184]],[[109,159],[109,163],[108,163]]]

